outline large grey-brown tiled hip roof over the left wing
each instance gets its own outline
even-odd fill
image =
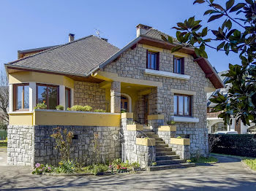
[[[118,50],[105,40],[91,35],[21,58],[8,65],[86,76]]]

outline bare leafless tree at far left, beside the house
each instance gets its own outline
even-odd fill
[[[9,106],[9,83],[4,71],[0,72],[0,120],[4,123],[9,122],[7,107]]]

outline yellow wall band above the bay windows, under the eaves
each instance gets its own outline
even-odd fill
[[[53,85],[65,85],[74,88],[74,80],[57,74],[46,74],[34,71],[20,71],[9,74],[9,83],[39,82]]]

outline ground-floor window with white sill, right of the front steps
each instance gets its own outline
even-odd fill
[[[191,96],[174,95],[174,115],[191,116]]]

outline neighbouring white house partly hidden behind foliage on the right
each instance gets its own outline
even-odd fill
[[[218,73],[219,78],[222,79],[222,82],[225,84],[227,80],[229,79],[228,77],[222,76],[222,74],[227,74],[227,70],[225,71],[220,71]],[[217,95],[218,93],[221,93],[223,95],[227,95],[227,90],[230,87],[230,83],[227,84],[225,87],[220,88],[218,90],[215,90],[211,93],[207,93],[207,128],[209,133],[215,133],[217,131],[237,131],[238,134],[246,134],[248,133],[247,130],[253,129],[255,127],[255,124],[252,123],[251,126],[244,125],[241,120],[236,122],[236,119],[232,119],[232,124],[231,125],[224,125],[224,120],[222,118],[219,118],[218,115],[220,112],[211,112],[211,110],[216,106],[216,104],[212,103],[210,101],[210,98],[213,95]]]

